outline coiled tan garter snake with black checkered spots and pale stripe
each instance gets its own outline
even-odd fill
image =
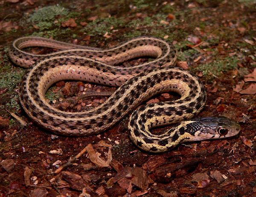
[[[33,54],[28,47],[56,51]],[[148,56],[148,62],[124,66],[122,62]],[[176,67],[174,45],[155,37],[135,37],[107,48],[73,45],[42,37],[20,37],[9,48],[16,65],[27,68],[20,82],[20,104],[44,129],[67,136],[96,135],[130,115],[131,141],[147,152],[166,152],[185,141],[227,138],[237,135],[239,124],[226,117],[194,118],[204,108],[206,90],[195,74]],[[118,87],[100,106],[84,112],[53,107],[45,94],[62,80],[85,81]],[[180,95],[175,101],[143,104],[165,92]],[[143,105],[141,105],[143,104]],[[155,127],[174,125],[162,134]]]

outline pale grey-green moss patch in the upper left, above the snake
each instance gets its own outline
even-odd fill
[[[43,21],[54,21],[58,15],[67,15],[68,9],[61,6],[46,6],[35,11],[29,20],[32,23],[39,23]]]

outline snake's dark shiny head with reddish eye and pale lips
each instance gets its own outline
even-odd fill
[[[198,129],[186,141],[227,138],[237,135],[241,129],[236,121],[223,116],[198,118],[194,123]]]

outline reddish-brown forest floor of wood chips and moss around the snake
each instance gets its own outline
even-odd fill
[[[255,0],[0,0],[0,197],[256,196],[255,16]],[[26,69],[8,56],[14,39],[30,35],[97,48],[142,35],[165,39],[178,49],[178,65],[205,84],[207,104],[199,116],[233,118],[241,132],[156,155],[132,144],[128,118],[97,136],[70,138],[41,129],[19,103]],[[107,99],[85,98],[70,107],[71,99],[88,90],[116,88],[59,82],[46,97],[69,111],[91,109]],[[166,93],[151,101],[173,98]],[[54,173],[82,150],[79,159]]]

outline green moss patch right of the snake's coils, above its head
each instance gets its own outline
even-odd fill
[[[225,59],[216,59],[215,61],[199,65],[195,70],[200,70],[205,75],[215,75],[220,76],[221,72],[226,72],[228,70],[233,70],[237,68],[237,63],[239,60],[236,56],[233,57],[226,57]]]

